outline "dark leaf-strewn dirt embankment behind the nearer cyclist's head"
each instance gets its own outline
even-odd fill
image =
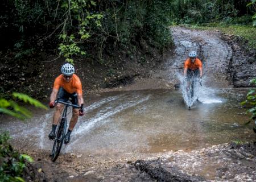
[[[150,71],[167,53],[159,52],[146,43],[134,52],[113,48],[113,52],[102,56],[102,63],[89,56],[75,59],[76,74],[81,79],[85,95],[88,92],[100,92],[101,89],[128,85],[135,77],[150,77]],[[22,92],[39,100],[48,100],[53,81],[61,74],[60,67],[65,63],[64,59],[56,57],[42,51],[25,60],[16,60],[13,52],[0,51],[0,96]]]

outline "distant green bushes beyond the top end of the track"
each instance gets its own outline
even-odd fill
[[[171,5],[174,22],[185,24],[209,22],[234,23],[233,21],[237,17],[253,13],[253,9],[246,7],[247,2],[242,0],[176,0],[172,1]],[[172,24],[175,24],[174,22]]]

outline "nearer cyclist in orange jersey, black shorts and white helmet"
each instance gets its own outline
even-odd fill
[[[55,78],[53,89],[50,97],[49,107],[55,107],[55,100],[67,102],[69,98],[71,98],[71,102],[73,105],[81,106],[81,109],[72,110],[72,118],[69,123],[69,128],[67,135],[65,136],[64,143],[67,144],[70,141],[70,135],[75,127],[79,115],[84,115],[84,98],[82,98],[82,84],[80,78],[75,75],[75,68],[72,64],[65,63],[61,67],[61,75]],[[60,119],[60,114],[64,109],[64,105],[58,103],[56,105],[56,110],[53,115],[52,121],[52,131],[49,133],[49,139],[55,139],[55,130],[57,127],[57,123]]]

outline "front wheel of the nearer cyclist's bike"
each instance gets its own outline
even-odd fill
[[[52,147],[52,155],[51,155],[52,162],[55,162],[55,160],[58,158],[60,154],[60,150],[64,142],[66,130],[67,130],[67,119],[62,118],[59,123],[55,141]]]

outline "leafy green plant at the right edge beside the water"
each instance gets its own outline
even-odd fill
[[[256,86],[256,78],[253,78],[250,81],[251,85]],[[246,95],[246,100],[241,102],[241,105],[249,105],[250,109],[247,110],[247,113],[251,113],[251,119],[256,120],[256,90],[250,89]]]

